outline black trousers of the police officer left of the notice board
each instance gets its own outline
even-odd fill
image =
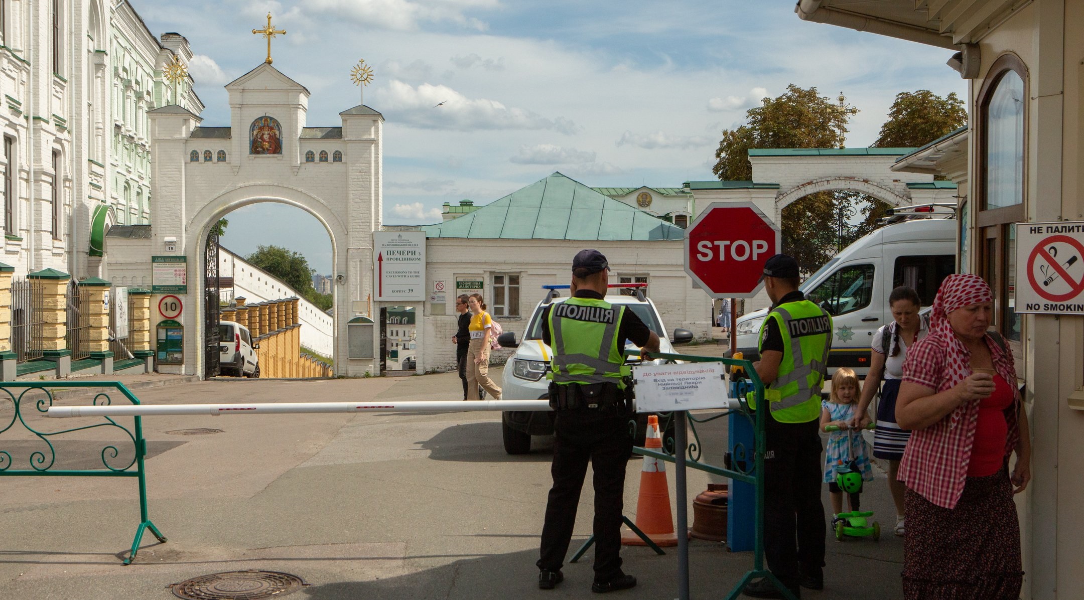
[[[624,470],[632,454],[630,413],[623,408],[558,410],[554,421],[553,487],[545,507],[539,569],[557,571],[572,538],[576,508],[588,472],[594,469],[595,581],[621,574],[621,509]]]

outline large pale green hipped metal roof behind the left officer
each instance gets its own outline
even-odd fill
[[[683,239],[685,230],[558,172],[443,223],[427,237],[476,239]]]

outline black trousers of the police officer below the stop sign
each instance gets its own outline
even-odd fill
[[[802,574],[820,575],[824,566],[825,516],[821,503],[818,421],[765,426],[764,557],[787,587]],[[797,542],[797,546],[796,546]]]

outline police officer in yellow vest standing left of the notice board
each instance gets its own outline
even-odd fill
[[[598,250],[572,260],[572,297],[542,313],[542,341],[553,350],[550,406],[554,420],[553,487],[545,508],[539,587],[564,581],[560,568],[576,524],[588,472],[594,470],[595,564],[591,589],[627,589],[636,578],[621,571],[621,509],[624,471],[632,454],[625,401],[625,340],[648,352],[659,337],[630,310],[606,302],[609,263]]]

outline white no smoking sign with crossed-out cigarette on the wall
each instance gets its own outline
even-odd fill
[[[1084,314],[1084,223],[1017,225],[1018,313]]]

